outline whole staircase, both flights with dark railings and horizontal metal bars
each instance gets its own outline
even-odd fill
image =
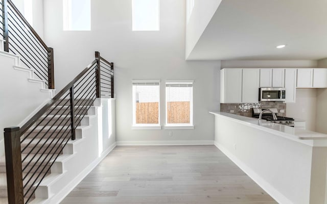
[[[103,98],[113,97],[113,63],[96,52],[96,59],[55,95],[53,49],[46,46],[11,0],[0,0],[0,7],[0,60],[10,73],[3,74],[7,79],[0,80],[7,80],[11,89],[27,90],[24,99],[33,103],[34,96],[44,96],[42,106],[34,107],[29,115],[23,114],[25,119],[19,127],[12,126],[17,125],[13,123],[5,128],[6,156],[0,157],[0,204],[58,203],[100,162],[102,102]],[[24,82],[24,87],[15,81]],[[13,95],[7,93],[4,98],[10,94]],[[19,102],[31,102],[8,101],[14,108],[19,107]],[[108,111],[104,114],[109,117]],[[10,115],[13,117],[18,115]],[[0,138],[0,154],[1,142]],[[87,147],[93,150],[85,151]]]

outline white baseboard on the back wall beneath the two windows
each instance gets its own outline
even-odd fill
[[[117,141],[117,146],[151,145],[213,145],[214,140]]]

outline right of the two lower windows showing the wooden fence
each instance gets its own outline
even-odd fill
[[[193,129],[193,81],[166,82],[166,127]]]

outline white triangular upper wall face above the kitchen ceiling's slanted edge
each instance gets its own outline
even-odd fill
[[[186,23],[185,59],[189,57],[222,0],[194,0],[194,8]]]

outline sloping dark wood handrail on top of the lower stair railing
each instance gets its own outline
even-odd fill
[[[46,111],[48,111],[60,98],[63,96],[73,85],[80,80],[83,75],[90,70],[95,64],[98,63],[98,60],[94,60],[91,62],[81,73],[77,75],[73,79],[73,81],[69,82],[61,91],[59,91],[55,97],[53,97],[48,103],[46,103],[43,108],[41,108],[29,121],[27,121],[24,125],[21,126],[19,133],[20,135],[23,135],[29,128],[37,121]]]

